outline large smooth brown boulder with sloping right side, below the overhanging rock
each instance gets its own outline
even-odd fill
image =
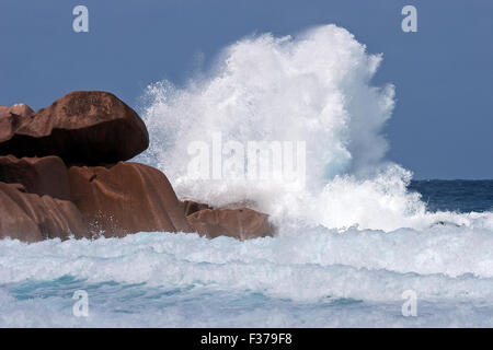
[[[138,163],[71,166],[70,192],[84,221],[104,236],[192,232],[183,206],[160,171]]]

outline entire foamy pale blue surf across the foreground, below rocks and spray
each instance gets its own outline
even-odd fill
[[[492,248],[490,231],[443,226],[317,228],[248,242],[172,233],[3,240],[0,325],[491,325]],[[68,276],[74,281],[59,282]],[[71,315],[78,289],[90,295],[87,320]],[[405,290],[419,296],[413,322],[400,315]]]

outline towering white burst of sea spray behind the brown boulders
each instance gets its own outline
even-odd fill
[[[406,189],[411,172],[385,159],[382,130],[394,88],[371,84],[381,59],[335,25],[241,39],[185,88],[168,81],[148,86],[142,115],[151,148],[139,160],[161,168],[182,198],[249,202],[270,213],[280,235],[293,221],[385,231],[424,229],[442,217],[462,224],[465,218],[426,213]],[[242,144],[306,142],[302,190],[275,178],[248,180],[246,166],[243,178],[210,178],[209,168],[205,179],[191,176],[190,145],[213,148],[215,135]]]

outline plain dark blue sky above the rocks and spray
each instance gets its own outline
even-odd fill
[[[72,31],[89,8],[90,32]],[[401,31],[417,8],[419,32]],[[34,109],[105,90],[136,109],[145,88],[183,83],[226,45],[335,23],[382,52],[375,84],[397,86],[389,159],[415,178],[493,178],[493,1],[1,0],[0,104]]]

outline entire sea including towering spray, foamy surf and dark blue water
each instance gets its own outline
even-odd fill
[[[277,235],[2,240],[0,326],[493,326],[493,180],[414,182],[386,159],[395,88],[371,84],[381,60],[326,25],[242,38],[184,86],[151,84],[151,148],[137,161],[181,198],[268,212]],[[188,145],[218,132],[306,142],[305,186],[225,167],[197,178]],[[73,314],[80,290],[87,317]],[[415,316],[402,314],[406,291]]]

